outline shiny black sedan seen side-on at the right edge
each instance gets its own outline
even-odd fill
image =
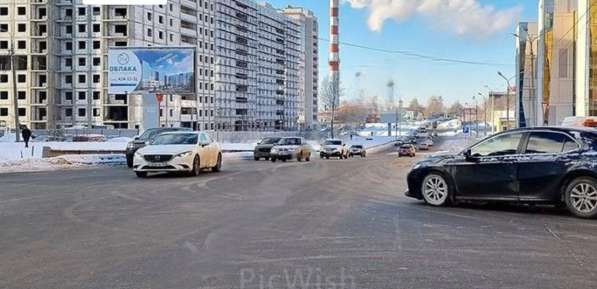
[[[432,156],[408,175],[407,196],[432,206],[458,201],[565,204],[597,217],[597,129],[517,129],[463,152]]]

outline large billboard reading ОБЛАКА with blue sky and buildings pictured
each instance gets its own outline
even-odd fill
[[[110,94],[195,94],[194,48],[110,48]]]

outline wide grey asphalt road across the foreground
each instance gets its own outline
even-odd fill
[[[597,222],[431,208],[413,159],[0,175],[0,288],[597,288]]]

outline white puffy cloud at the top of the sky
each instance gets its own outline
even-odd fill
[[[404,21],[423,16],[434,28],[482,38],[510,27],[520,7],[498,10],[478,0],[345,0],[353,8],[369,10],[369,27],[380,31],[389,19]]]

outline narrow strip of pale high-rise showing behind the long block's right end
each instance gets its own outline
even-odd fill
[[[302,128],[314,128],[318,125],[318,101],[319,101],[319,24],[313,12],[299,7],[287,7],[284,14],[296,19],[302,26],[304,32],[304,75],[302,78],[303,94],[300,98],[299,124]]]

